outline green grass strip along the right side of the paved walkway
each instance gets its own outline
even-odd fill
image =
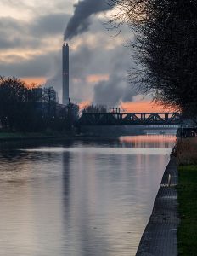
[[[197,256],[197,166],[180,166],[178,255]]]

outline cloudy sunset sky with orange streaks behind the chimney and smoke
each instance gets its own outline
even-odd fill
[[[127,83],[132,38],[104,27],[105,0],[0,0],[0,75],[47,84],[61,102],[61,47],[70,44],[70,100],[153,111]]]

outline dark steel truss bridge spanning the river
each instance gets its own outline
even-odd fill
[[[180,113],[82,113],[77,125],[180,125]]]

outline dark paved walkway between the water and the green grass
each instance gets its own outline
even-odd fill
[[[169,176],[170,182],[169,182]],[[152,215],[136,256],[177,256],[177,163],[174,156],[166,167],[155,198]]]

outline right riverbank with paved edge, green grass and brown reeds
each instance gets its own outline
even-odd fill
[[[136,256],[197,255],[197,137],[178,137],[174,153]]]

